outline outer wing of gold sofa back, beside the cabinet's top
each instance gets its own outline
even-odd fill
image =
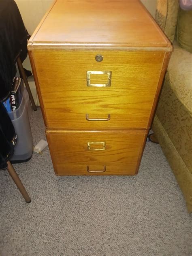
[[[179,10],[178,0],[157,0],[156,22],[173,43]]]

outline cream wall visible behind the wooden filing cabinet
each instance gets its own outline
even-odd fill
[[[15,2],[19,7],[19,11],[29,34],[32,34],[54,0],[15,0]],[[141,2],[143,2],[151,15],[155,17],[156,0],[141,0]],[[31,70],[29,58],[24,61],[23,66]],[[36,100],[37,105],[39,105],[36,88],[32,78],[29,79],[29,84],[34,99]]]

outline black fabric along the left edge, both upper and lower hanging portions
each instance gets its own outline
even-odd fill
[[[29,37],[15,1],[0,0],[0,169],[6,169],[6,162],[13,155],[15,138],[15,129],[1,102],[11,92],[17,57],[22,62],[27,57]]]

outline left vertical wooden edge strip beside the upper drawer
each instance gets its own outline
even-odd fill
[[[36,86],[36,90],[37,90],[37,94],[38,94],[38,99],[39,99],[40,106],[41,106],[41,112],[43,114],[43,119],[44,119],[45,126],[47,126],[47,119],[46,119],[46,116],[45,116],[45,108],[44,108],[44,105],[43,105],[43,99],[42,99],[42,96],[41,96],[41,91],[40,91],[40,87],[39,87],[39,82],[38,82],[38,77],[37,77],[37,73],[36,73],[36,68],[35,68],[35,64],[34,64],[34,58],[33,58],[33,55],[32,55],[32,51],[28,51],[28,54],[29,54],[29,59],[30,59],[31,67],[32,67],[35,86]]]

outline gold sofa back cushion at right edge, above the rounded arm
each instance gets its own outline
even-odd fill
[[[177,42],[182,48],[192,53],[192,10],[183,11],[179,8]]]

